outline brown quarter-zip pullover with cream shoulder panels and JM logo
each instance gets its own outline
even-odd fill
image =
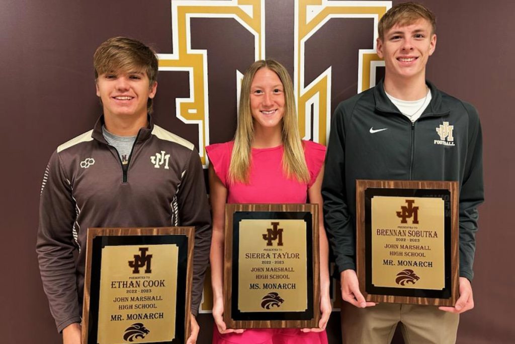
[[[102,122],[101,117],[93,130],[60,145],[43,177],[36,251],[57,329],[81,321],[89,227],[195,226],[196,315],[211,244],[199,154],[149,117],[123,165],[102,135]]]

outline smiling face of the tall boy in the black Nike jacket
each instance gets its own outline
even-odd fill
[[[435,47],[436,35],[426,19],[394,25],[382,39],[377,38],[377,55],[385,60],[385,79],[425,79],[425,65]]]

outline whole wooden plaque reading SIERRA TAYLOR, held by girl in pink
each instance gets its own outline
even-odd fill
[[[318,205],[227,204],[225,220],[228,328],[317,327]]]

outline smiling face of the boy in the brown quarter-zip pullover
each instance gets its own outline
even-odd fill
[[[104,116],[147,116],[147,101],[156,95],[157,82],[150,85],[144,70],[100,74],[96,94],[102,101]]]

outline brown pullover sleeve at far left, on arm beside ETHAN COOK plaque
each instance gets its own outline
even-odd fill
[[[36,252],[50,313],[59,332],[81,321],[73,256],[77,249],[73,237],[75,218],[72,188],[54,152],[41,186]]]

